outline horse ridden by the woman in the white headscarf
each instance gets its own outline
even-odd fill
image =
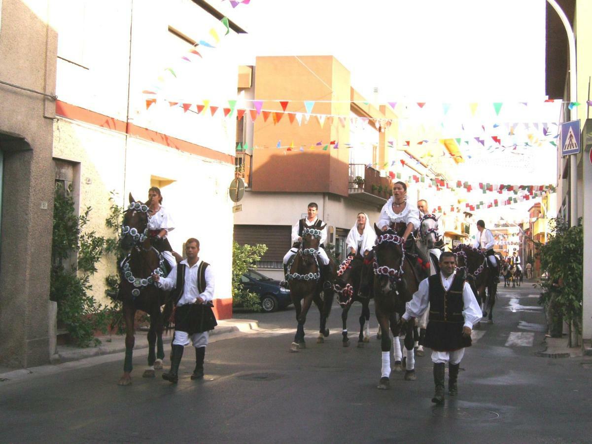
[[[363,347],[370,338],[370,299],[372,294],[371,284],[368,282],[372,273],[367,258],[360,255],[348,256],[337,270],[337,277],[333,283],[333,290],[337,293],[337,302],[342,307],[341,320],[343,324],[343,347],[349,347],[348,338],[348,313],[352,304],[358,301],[362,304],[362,314],[359,317],[360,333],[358,335],[358,347]]]

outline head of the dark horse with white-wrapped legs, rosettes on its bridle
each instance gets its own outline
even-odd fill
[[[381,231],[376,224],[374,230],[377,234],[374,247],[374,282],[378,283],[383,294],[387,294],[397,290],[397,283],[403,275],[403,238],[392,229]]]

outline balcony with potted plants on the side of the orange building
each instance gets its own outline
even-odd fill
[[[391,179],[364,164],[349,164],[349,197],[372,205],[384,205],[391,197]]]

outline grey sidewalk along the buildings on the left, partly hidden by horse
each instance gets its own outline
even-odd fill
[[[210,342],[230,339],[243,334],[254,333],[259,330],[259,322],[244,319],[227,319],[218,321],[217,327],[210,331]],[[136,342],[134,344],[134,356],[143,356],[148,353],[147,330],[136,330]],[[170,344],[173,331],[163,334],[164,344]],[[112,362],[121,359],[115,356],[126,351],[125,335],[109,335],[99,337],[101,344],[97,347],[85,349],[72,346],[58,346],[57,353],[51,359],[49,365],[24,369],[0,368],[0,382],[15,381],[31,375],[43,376],[58,373],[73,368],[83,368],[103,362]]]

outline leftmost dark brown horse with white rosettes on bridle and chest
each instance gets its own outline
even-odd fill
[[[120,245],[130,251],[120,263],[120,283],[117,299],[123,302],[123,314],[126,320],[126,357],[123,376],[118,385],[131,384],[132,355],[135,343],[134,317],[137,310],[146,312],[150,317],[148,330],[148,368],[144,378],[155,378],[155,370],[162,369],[165,351],[162,344],[162,332],[172,314],[173,301],[170,292],[157,288],[153,274],[165,275],[165,259],[156,248],[150,245],[148,238],[148,207],[136,202],[129,195],[130,205],[124,212],[121,224]],[[165,305],[165,312],[160,307]],[[155,346],[157,347],[155,353]]]

